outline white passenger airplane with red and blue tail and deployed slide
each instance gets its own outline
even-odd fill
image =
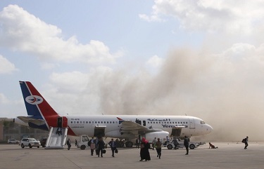
[[[28,116],[18,116],[15,122],[49,130],[47,142],[54,149],[64,146],[67,135],[125,139],[125,146],[132,147],[133,140],[139,137],[146,137],[146,140],[167,136],[192,137],[207,135],[213,130],[202,119],[194,116],[61,115],[46,102],[30,81],[19,83]],[[63,129],[61,138],[56,135],[58,128]]]

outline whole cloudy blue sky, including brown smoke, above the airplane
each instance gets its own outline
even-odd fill
[[[253,113],[258,126],[263,6],[1,1],[1,116],[26,116],[18,81],[31,81],[59,114],[188,114],[223,132]]]

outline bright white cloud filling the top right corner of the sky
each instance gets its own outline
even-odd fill
[[[184,29],[253,34],[264,25],[264,1],[182,1],[156,0],[148,21],[163,20],[164,16],[177,18]],[[151,19],[155,18],[155,19]],[[158,19],[159,18],[159,19]]]

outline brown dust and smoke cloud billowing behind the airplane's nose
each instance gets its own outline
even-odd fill
[[[263,140],[263,61],[182,48],[171,50],[155,75],[127,72],[101,77],[100,104],[107,114],[187,114],[214,128],[203,140]]]

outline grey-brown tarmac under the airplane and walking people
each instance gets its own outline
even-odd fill
[[[248,149],[244,149],[241,142],[213,142],[218,149],[208,149],[204,144],[197,149],[190,149],[185,155],[185,149],[162,149],[161,159],[156,150],[149,149],[151,161],[139,161],[139,149],[119,148],[118,154],[112,157],[111,149],[106,149],[103,158],[90,150],[72,148],[44,149],[33,147],[22,149],[18,144],[0,144],[0,168],[3,169],[87,169],[87,168],[188,168],[188,169],[254,169],[264,168],[264,142],[249,142]]]

